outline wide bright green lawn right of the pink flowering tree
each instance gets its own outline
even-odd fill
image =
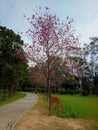
[[[66,116],[97,119],[98,120],[98,97],[96,96],[70,96],[57,95],[66,109]]]

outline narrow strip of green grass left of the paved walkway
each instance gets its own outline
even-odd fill
[[[13,97],[8,97],[5,101],[2,101],[2,93],[0,93],[0,106],[6,105],[11,102],[15,102],[25,96],[24,93],[16,92]]]

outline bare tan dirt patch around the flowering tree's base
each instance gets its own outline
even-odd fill
[[[14,130],[90,130],[88,120],[48,116],[44,109],[32,109],[15,125]]]

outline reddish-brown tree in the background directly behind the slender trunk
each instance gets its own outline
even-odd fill
[[[61,60],[59,57],[51,57],[51,77],[50,77],[50,87],[52,89],[52,92],[57,92],[57,89],[62,84],[62,73],[60,71],[61,68]],[[41,87],[44,92],[47,92],[47,82],[46,82],[46,76],[47,76],[47,61],[43,64],[36,65],[34,67],[31,67],[30,69],[30,82],[32,85],[37,88]]]

